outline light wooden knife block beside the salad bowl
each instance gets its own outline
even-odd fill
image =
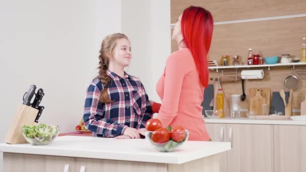
[[[23,136],[22,127],[37,124],[34,122],[37,114],[37,109],[27,105],[19,105],[4,141],[10,144],[28,143]]]

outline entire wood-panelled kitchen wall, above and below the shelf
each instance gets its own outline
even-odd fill
[[[215,22],[298,15],[305,14],[306,9],[306,1],[304,0],[172,0],[171,23],[175,23],[178,16],[190,5],[208,9]],[[283,53],[299,57],[301,38],[306,36],[305,23],[306,17],[300,17],[215,25],[209,59],[219,61],[222,54],[240,55],[246,63],[249,48],[253,48],[254,53],[259,52],[264,57],[281,56]],[[178,50],[177,43],[174,41],[172,41],[171,47],[172,52]],[[226,70],[224,74],[226,75],[228,71],[233,73],[235,70]],[[284,89],[283,81],[291,72],[288,67],[271,67],[271,70],[265,70],[264,79],[246,80],[247,99],[242,102],[242,108],[248,109],[250,88],[271,88],[272,92],[278,92],[280,89]],[[210,70],[210,77],[218,74],[221,75],[221,72],[216,73],[214,70]],[[214,81],[210,81],[210,84],[213,83]],[[306,94],[305,83],[305,80],[301,80],[299,89],[293,92],[293,109],[299,109],[300,102],[304,100]],[[242,94],[241,81],[222,82],[221,84],[227,103],[229,103],[230,95]]]

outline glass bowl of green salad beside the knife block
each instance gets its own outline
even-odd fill
[[[24,125],[22,133],[25,139],[32,145],[45,145],[51,143],[59,133],[58,126],[45,124]]]

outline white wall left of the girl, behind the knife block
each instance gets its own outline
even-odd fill
[[[45,92],[40,122],[74,130],[97,75],[101,41],[121,31],[120,6],[120,0],[1,1],[1,141],[33,82]]]

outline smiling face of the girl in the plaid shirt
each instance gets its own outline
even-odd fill
[[[119,39],[114,50],[113,60],[117,65],[126,67],[132,59],[130,41],[127,39]]]

